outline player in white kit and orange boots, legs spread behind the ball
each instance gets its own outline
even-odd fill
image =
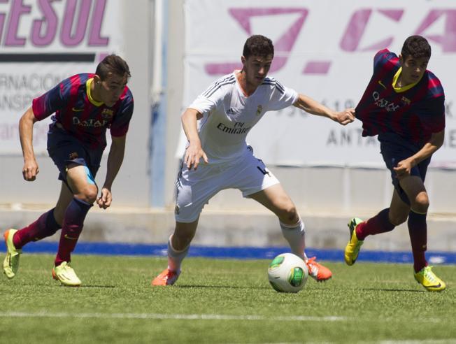
[[[199,214],[212,196],[222,189],[239,189],[278,217],[283,236],[308,266],[317,281],[332,273],[308,259],[304,252],[304,222],[277,178],[245,142],[252,127],[267,111],[296,106],[313,115],[340,124],[353,122],[354,110],[335,112],[317,101],[266,77],[273,60],[271,40],[261,35],[245,41],[243,69],[223,76],[185,110],[183,129],[188,143],[176,182],[176,229],[168,241],[168,268],[152,285],[173,285],[197,230]],[[200,164],[200,160],[204,164]]]

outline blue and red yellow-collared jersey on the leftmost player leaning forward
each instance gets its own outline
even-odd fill
[[[106,147],[106,129],[111,136],[127,134],[133,115],[133,94],[125,86],[120,99],[112,107],[95,101],[90,94],[94,74],[76,74],[63,80],[32,101],[37,120],[52,116],[50,129],[57,126],[78,138],[90,148]]]

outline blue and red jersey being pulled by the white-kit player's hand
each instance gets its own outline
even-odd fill
[[[416,143],[445,128],[445,94],[431,71],[413,85],[394,89],[399,57],[387,49],[373,58],[373,75],[355,112],[362,121],[362,136],[394,132]],[[398,73],[399,72],[399,73]]]

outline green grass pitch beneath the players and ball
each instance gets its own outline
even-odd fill
[[[164,258],[74,255],[83,281],[62,287],[53,257],[23,255],[0,276],[0,343],[456,343],[456,266],[426,292],[405,264],[345,266],[275,292],[266,260],[188,258],[173,287],[150,287]]]

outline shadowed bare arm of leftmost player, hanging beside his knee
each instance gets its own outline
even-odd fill
[[[111,149],[109,150],[108,155],[106,180],[104,181],[104,185],[101,188],[101,194],[99,196],[99,199],[97,199],[97,204],[100,208],[108,208],[108,206],[111,206],[111,202],[113,201],[111,187],[113,186],[115,176],[119,172],[120,166],[122,166],[122,162],[124,160],[126,138],[126,135],[112,137],[113,142],[111,143]]]

